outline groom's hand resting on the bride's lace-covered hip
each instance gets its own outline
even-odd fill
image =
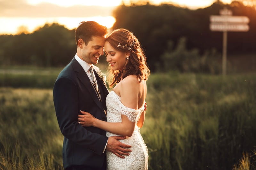
[[[113,137],[108,137],[108,143],[107,143],[107,150],[109,152],[114,153],[116,156],[120,158],[124,158],[122,155],[130,155],[127,152],[132,152],[131,150],[124,149],[124,148],[130,148],[132,146],[123,144],[122,142],[119,142],[118,140],[125,139],[126,137],[124,136],[113,136]]]

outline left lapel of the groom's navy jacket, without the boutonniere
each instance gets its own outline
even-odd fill
[[[102,103],[98,98],[98,95],[96,94],[93,85],[89,79],[89,77],[87,76],[87,74],[85,73],[84,69],[82,68],[82,66],[76,61],[76,59],[74,58],[72,60],[72,66],[73,69],[77,72],[77,78],[83,83],[83,85],[85,86],[85,88],[87,88],[88,92],[90,93],[92,99],[94,100],[94,102],[103,109]]]

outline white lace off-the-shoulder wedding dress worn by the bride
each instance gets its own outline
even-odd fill
[[[108,170],[144,170],[148,169],[148,149],[140,134],[140,128],[137,122],[141,113],[144,110],[144,105],[140,109],[132,109],[125,107],[121,103],[119,97],[114,91],[109,92],[107,99],[107,122],[122,122],[121,114],[126,115],[131,122],[136,122],[133,134],[131,137],[119,140],[124,144],[131,145],[132,152],[125,158],[119,158],[114,153],[107,151],[107,169]],[[118,136],[107,132],[107,137]]]

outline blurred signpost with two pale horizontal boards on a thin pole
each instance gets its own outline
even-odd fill
[[[228,31],[247,32],[249,30],[249,18],[246,16],[232,16],[232,11],[228,9],[220,10],[220,15],[210,16],[211,31],[223,32],[222,48],[222,75],[227,74],[227,40]]]

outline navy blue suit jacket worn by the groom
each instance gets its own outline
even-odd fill
[[[95,69],[99,69],[95,67]],[[92,83],[75,58],[60,72],[53,88],[53,101],[63,141],[63,166],[83,166],[101,169],[106,159],[102,153],[107,143],[106,131],[83,127],[77,121],[80,110],[107,121],[106,97],[108,89],[94,70],[102,101]]]

